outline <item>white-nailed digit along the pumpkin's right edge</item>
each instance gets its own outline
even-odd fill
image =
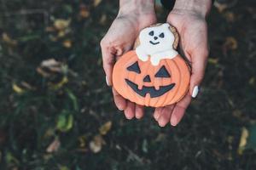
[[[205,75],[208,50],[201,50],[191,54],[192,73],[190,77],[189,94],[195,98],[199,93],[201,81]]]

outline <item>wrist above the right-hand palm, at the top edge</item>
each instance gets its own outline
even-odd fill
[[[173,10],[199,14],[206,18],[212,7],[212,0],[176,0]]]

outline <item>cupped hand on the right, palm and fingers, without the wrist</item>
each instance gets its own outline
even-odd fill
[[[161,127],[168,122],[176,126],[181,121],[191,97],[195,97],[198,92],[208,56],[207,22],[204,15],[193,10],[174,8],[168,15],[167,22],[177,28],[181,54],[189,59],[192,70],[188,94],[176,105],[155,109],[154,119]]]

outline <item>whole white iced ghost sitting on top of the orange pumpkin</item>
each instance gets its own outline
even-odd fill
[[[152,65],[158,65],[160,59],[172,59],[177,56],[177,51],[173,48],[176,39],[167,23],[145,28],[139,34],[140,43],[136,54],[139,59],[147,61],[149,58]]]

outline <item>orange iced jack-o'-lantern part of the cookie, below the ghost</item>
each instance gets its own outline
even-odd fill
[[[114,65],[113,87],[125,99],[138,105],[171,105],[187,93],[189,68],[179,55],[152,65],[149,60],[138,59],[135,51],[130,51]]]

